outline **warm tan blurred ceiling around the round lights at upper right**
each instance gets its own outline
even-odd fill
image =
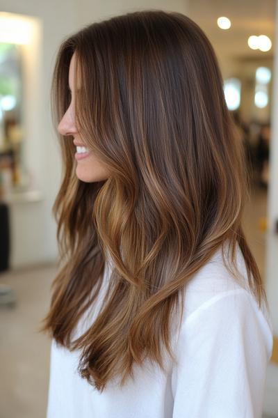
[[[272,57],[275,36],[276,0],[188,0],[188,13],[201,28],[223,59],[253,60]],[[229,17],[231,28],[220,29],[217,19]],[[250,35],[267,35],[272,41],[268,52],[250,49]]]

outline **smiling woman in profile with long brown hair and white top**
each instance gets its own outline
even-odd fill
[[[60,46],[53,93],[47,417],[261,417],[272,325],[205,34],[162,10],[90,24]]]

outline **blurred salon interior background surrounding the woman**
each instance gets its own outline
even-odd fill
[[[34,318],[47,309],[58,254],[51,208],[61,172],[49,95],[58,45],[85,24],[144,8],[188,15],[215,48],[225,98],[252,173],[244,229],[265,281],[278,336],[277,2],[1,0],[0,330],[5,338],[0,341],[0,364],[1,376],[7,376],[0,381],[3,417],[43,417],[47,399],[49,341],[35,334]],[[265,417],[278,417],[277,339],[274,342]],[[40,392],[36,401],[32,387]]]

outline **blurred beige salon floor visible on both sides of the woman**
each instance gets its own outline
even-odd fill
[[[265,235],[259,219],[265,210],[266,192],[259,190],[246,208],[244,229],[261,274]],[[55,272],[53,265],[44,265],[0,274],[0,284],[12,286],[17,297],[14,308],[0,309],[0,418],[45,417],[50,341],[36,328],[49,306]]]

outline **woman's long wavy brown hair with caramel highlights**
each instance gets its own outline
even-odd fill
[[[59,136],[63,181],[53,210],[60,271],[41,330],[70,350],[82,349],[80,376],[103,390],[116,375],[123,384],[146,357],[164,369],[163,348],[174,359],[171,323],[180,308],[182,318],[186,284],[215,251],[225,256],[224,242],[234,268],[239,245],[248,286],[260,307],[267,301],[242,228],[250,198],[244,148],[202,29],[162,10],[83,27],[58,51],[56,122],[70,104],[74,52],[81,77],[81,90],[74,85],[76,126],[111,176],[96,183],[76,178],[75,147]],[[108,254],[113,272],[104,303],[72,341],[99,293]]]

